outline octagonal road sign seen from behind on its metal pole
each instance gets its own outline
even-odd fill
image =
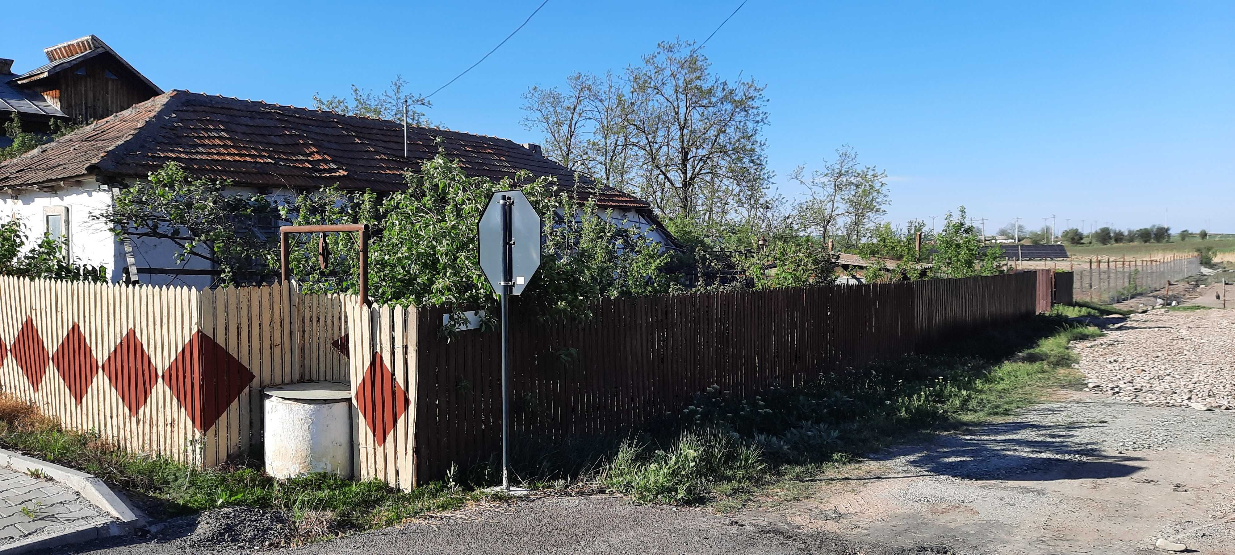
[[[480,269],[501,305],[501,487],[510,487],[510,296],[527,286],[541,258],[541,218],[520,191],[498,191],[489,199],[480,222]]]

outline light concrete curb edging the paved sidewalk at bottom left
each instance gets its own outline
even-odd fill
[[[27,538],[0,548],[0,555],[17,555],[41,549],[56,548],[65,544],[86,541],[96,538],[127,534],[143,524],[143,519],[125,503],[116,492],[111,491],[103,480],[94,475],[80,472],[73,469],[38,460],[35,458],[19,455],[14,451],[0,449],[0,466],[10,467],[19,472],[30,474],[32,470],[61,482],[78,492],[82,498],[94,503],[103,511],[116,518],[115,522],[104,524],[88,524],[78,528],[69,528],[56,535]]]

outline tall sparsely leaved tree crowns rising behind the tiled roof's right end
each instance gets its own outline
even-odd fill
[[[574,74],[566,91],[535,86],[524,100],[524,125],[551,158],[667,218],[718,234],[769,205],[763,86],[715,75],[693,42],[662,42],[618,78]]]

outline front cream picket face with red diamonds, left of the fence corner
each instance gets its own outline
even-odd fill
[[[0,386],[65,427],[200,464],[204,437],[173,387],[196,291],[0,276]]]

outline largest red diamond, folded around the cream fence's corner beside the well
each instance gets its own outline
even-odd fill
[[[163,384],[201,432],[210,429],[257,377],[210,335],[194,332],[163,371]]]

